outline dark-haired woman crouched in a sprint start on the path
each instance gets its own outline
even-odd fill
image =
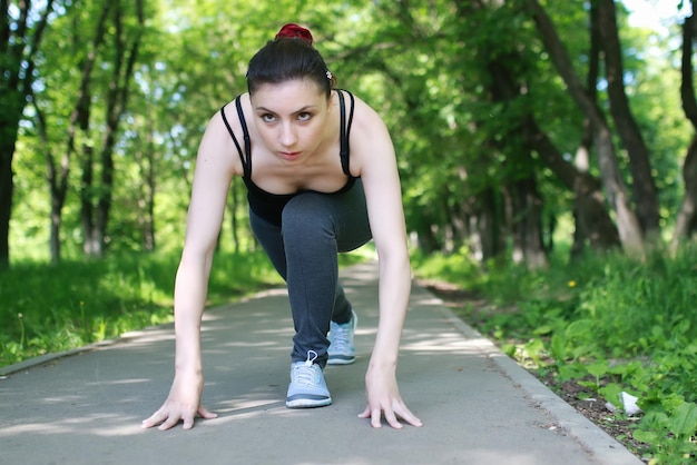
[[[374,427],[421,426],[396,384],[400,337],[411,290],[394,148],[381,118],[334,78],[312,34],[284,26],[249,61],[248,92],[210,120],[197,156],[186,238],[175,285],[176,370],[163,406],[143,422],[194,425],[204,386],[200,320],[230,181],[248,189],[254,234],[286,280],[296,335],[289,408],[332,403],[323,368],[355,359],[356,315],[337,280],[337,253],[374,239],[380,323],[359,416]],[[328,332],[328,337],[327,337]]]

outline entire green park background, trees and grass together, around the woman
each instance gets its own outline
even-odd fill
[[[296,21],[391,130],[416,275],[615,421],[640,395],[638,455],[694,458],[697,26],[636,3],[1,0],[0,365],[170,318],[203,130]],[[226,218],[212,303],[277,284],[240,182]]]

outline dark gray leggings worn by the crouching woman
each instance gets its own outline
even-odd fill
[[[303,362],[307,352],[317,353],[315,363],[326,364],[330,320],[346,323],[351,304],[338,284],[337,254],[354,250],[372,235],[367,221],[363,184],[342,194],[302,192],[283,209],[278,227],[253,211],[252,230],[274,267],[288,286],[295,325],[293,362]]]

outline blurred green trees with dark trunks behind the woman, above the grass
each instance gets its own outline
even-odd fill
[[[0,6],[0,267],[177,249],[203,130],[289,21],[387,122],[422,251],[539,268],[694,240],[691,1]],[[245,219],[234,182],[222,247],[254,247]]]

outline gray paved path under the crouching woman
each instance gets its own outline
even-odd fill
[[[205,314],[204,404],[218,418],[188,432],[140,428],[171,382],[165,325],[4,368],[0,464],[641,463],[418,286],[397,376],[424,426],[372,429],[356,415],[377,319],[376,266],[342,277],[360,315],[359,358],[327,367],[332,406],[285,408],[292,320],[285,291],[267,291]]]

